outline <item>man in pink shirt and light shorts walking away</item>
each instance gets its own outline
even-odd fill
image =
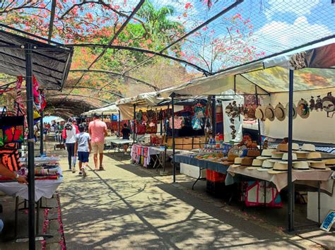
[[[107,125],[104,121],[99,119],[98,114],[93,114],[93,121],[90,121],[88,125],[88,133],[90,133],[93,159],[95,170],[103,170],[102,167],[102,157],[103,157],[103,148],[105,145],[105,136],[107,136]],[[99,168],[98,168],[98,153],[99,153]]]

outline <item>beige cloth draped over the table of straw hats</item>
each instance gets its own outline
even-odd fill
[[[229,167],[228,176],[225,179],[225,184],[233,184],[233,178],[235,174],[241,174],[243,176],[252,177],[254,179],[261,179],[264,181],[270,181],[276,185],[278,191],[281,191],[284,187],[288,185],[288,173],[281,172],[278,174],[269,174],[266,171],[258,171],[257,169],[247,169],[247,167]],[[303,184],[307,186],[318,187],[320,184],[320,189],[327,191],[329,194],[333,191],[334,180],[331,179],[331,170],[316,170],[302,172],[302,171],[292,171],[292,181],[296,184]]]

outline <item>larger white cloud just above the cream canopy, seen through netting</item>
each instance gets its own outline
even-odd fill
[[[257,49],[266,54],[272,54],[327,37],[333,33],[327,25],[312,24],[305,16],[300,16],[293,24],[278,21],[266,23],[254,32],[254,37],[257,37]]]

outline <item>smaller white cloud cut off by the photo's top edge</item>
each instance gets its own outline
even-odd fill
[[[295,13],[297,16],[306,16],[312,13],[313,8],[320,0],[269,0],[269,8],[265,9],[266,18],[270,19],[276,13]]]

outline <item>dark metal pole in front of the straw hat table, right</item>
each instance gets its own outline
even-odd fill
[[[293,74],[294,71],[290,69],[288,86],[288,232],[294,230],[294,183],[292,182]]]

